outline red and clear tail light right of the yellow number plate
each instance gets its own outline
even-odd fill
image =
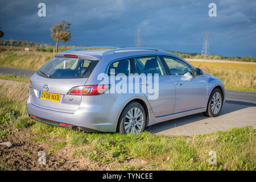
[[[109,88],[110,85],[75,86],[67,94],[75,96],[96,96],[105,93]]]

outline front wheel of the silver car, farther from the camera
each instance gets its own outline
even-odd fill
[[[223,97],[221,90],[218,88],[214,89],[209,97],[207,111],[205,111],[203,114],[207,117],[216,117],[218,114],[220,114],[222,102]]]

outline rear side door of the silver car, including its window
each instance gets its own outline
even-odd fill
[[[138,70],[136,67],[146,75],[146,80],[140,80],[140,87],[141,90],[146,90],[144,94],[155,117],[172,114],[175,105],[175,85],[172,78],[167,76],[159,57],[135,57],[135,70]],[[152,92],[148,92],[149,90]]]

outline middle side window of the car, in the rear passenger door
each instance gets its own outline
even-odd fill
[[[139,67],[141,67],[142,73],[145,73],[146,75],[166,75],[163,65],[157,56],[135,57],[135,60],[139,64]]]

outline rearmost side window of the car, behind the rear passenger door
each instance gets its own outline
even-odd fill
[[[128,76],[129,73],[132,73],[132,70],[130,59],[123,59],[110,64],[108,75],[117,75],[122,73]]]

